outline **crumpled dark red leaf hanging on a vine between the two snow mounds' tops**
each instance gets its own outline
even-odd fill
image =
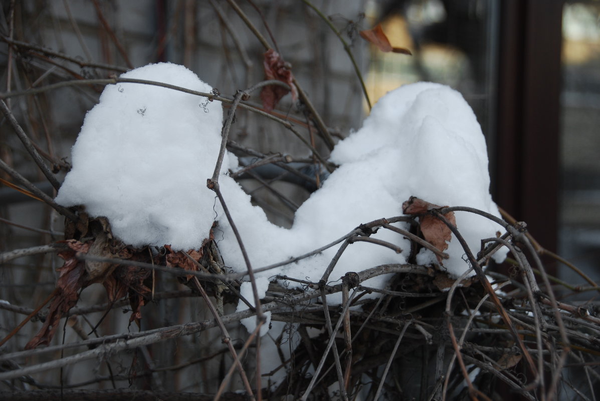
[[[275,79],[287,83],[292,88],[292,100],[298,99],[298,89],[293,84],[294,76],[289,65],[283,61],[279,53],[269,49],[264,53],[263,67],[265,68],[265,79]],[[289,91],[286,88],[277,85],[265,86],[260,91],[260,99],[266,111],[272,111],[277,102],[281,100]]]

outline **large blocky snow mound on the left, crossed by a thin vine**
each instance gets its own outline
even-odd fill
[[[187,68],[168,63],[122,77],[212,89]],[[85,116],[72,149],[73,169],[56,201],[106,216],[125,243],[197,248],[215,218],[206,179],[215,168],[223,120],[219,102],[208,102],[207,112],[201,102],[206,98],[159,86],[107,86]]]

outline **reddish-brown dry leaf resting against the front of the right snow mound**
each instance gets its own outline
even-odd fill
[[[416,197],[410,197],[409,200],[402,204],[402,210],[405,215],[419,215],[421,231],[425,240],[443,252],[448,249],[448,242],[452,239],[452,231],[443,221],[428,213],[431,209],[440,209],[441,207],[445,206],[437,206]],[[451,224],[456,225],[454,212],[445,213],[443,216]],[[436,255],[436,257],[437,261],[443,265],[442,258],[439,255]]]

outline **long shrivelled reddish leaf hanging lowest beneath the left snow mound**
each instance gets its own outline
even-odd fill
[[[54,334],[61,317],[64,316],[71,307],[77,304],[79,300],[79,291],[86,286],[85,262],[78,260],[75,255],[77,252],[86,253],[89,251],[91,243],[82,243],[77,240],[65,241],[69,249],[58,252],[58,256],[63,258],[65,263],[58,269],[60,272],[56,282],[56,296],[50,303],[48,316],[44,325],[37,334],[25,345],[25,349],[36,348],[38,345],[48,345]]]

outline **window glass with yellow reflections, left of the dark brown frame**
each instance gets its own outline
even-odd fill
[[[409,0],[381,2],[372,10],[367,16],[382,23],[392,46],[407,47],[413,55],[371,47],[371,102],[406,83],[444,83],[463,94],[489,143],[494,133],[499,1]]]

